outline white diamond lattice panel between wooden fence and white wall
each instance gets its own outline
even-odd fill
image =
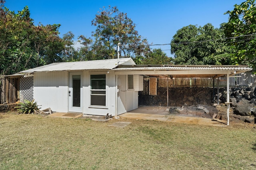
[[[34,77],[22,77],[20,79],[20,102],[32,101],[34,98]]]

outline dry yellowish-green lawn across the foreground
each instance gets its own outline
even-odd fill
[[[108,126],[130,121],[119,128]],[[0,113],[1,170],[256,169],[256,128]]]

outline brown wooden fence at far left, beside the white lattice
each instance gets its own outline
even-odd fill
[[[20,78],[0,78],[0,104],[15,103],[19,99]]]

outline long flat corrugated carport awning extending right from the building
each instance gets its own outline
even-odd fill
[[[167,75],[175,77],[194,77],[194,78],[217,78],[239,74],[242,72],[250,71],[252,68],[248,66],[239,65],[134,65],[134,66],[118,66],[112,69],[116,71],[117,75],[120,74],[144,74],[144,75]]]

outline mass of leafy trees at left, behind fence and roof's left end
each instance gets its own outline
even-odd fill
[[[60,25],[35,26],[28,6],[17,14],[0,1],[0,72],[13,74],[28,68],[62,61]]]

